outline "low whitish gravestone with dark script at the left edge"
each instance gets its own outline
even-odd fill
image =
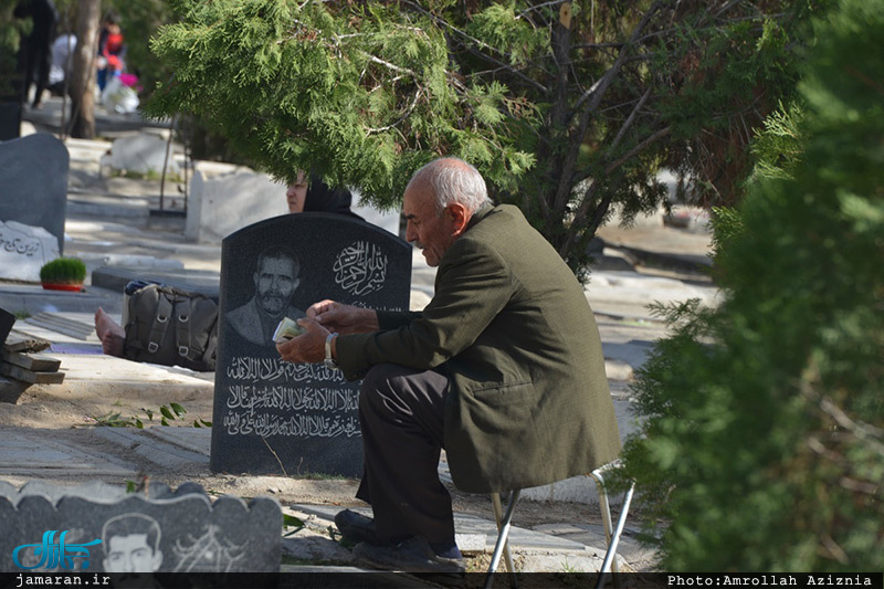
[[[40,282],[40,269],[60,253],[55,235],[42,227],[0,221],[0,278]]]

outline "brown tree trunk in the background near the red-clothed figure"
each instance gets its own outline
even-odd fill
[[[102,0],[80,0],[71,80],[71,137],[95,138],[95,55]]]

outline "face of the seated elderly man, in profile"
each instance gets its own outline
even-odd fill
[[[427,182],[417,181],[406,189],[402,212],[408,220],[406,240],[422,250],[427,265],[438,266],[456,236],[454,222],[448,214],[448,209],[439,214],[432,190]]]

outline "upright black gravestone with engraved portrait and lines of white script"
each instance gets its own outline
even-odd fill
[[[360,476],[358,382],[280,360],[273,329],[325,298],[407,311],[410,287],[411,246],[364,221],[286,214],[224,239],[211,470]]]

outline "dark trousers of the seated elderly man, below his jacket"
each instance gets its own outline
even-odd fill
[[[454,540],[451,495],[439,481],[449,379],[394,364],[372,367],[359,389],[365,474],[356,496],[371,504],[381,539]]]

